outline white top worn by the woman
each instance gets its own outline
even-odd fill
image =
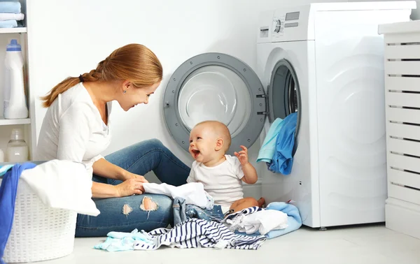
[[[111,102],[107,107],[108,126],[81,82],[59,94],[43,119],[36,159],[65,159],[92,167],[95,161],[103,158],[100,153],[111,142]]]

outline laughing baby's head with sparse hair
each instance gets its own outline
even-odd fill
[[[230,147],[228,126],[218,121],[204,121],[190,133],[190,154],[202,163],[221,159]]]

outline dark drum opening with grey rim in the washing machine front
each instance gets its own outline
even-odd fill
[[[297,124],[295,129],[295,145],[293,156],[297,149],[300,131],[300,86],[299,80],[293,65],[287,59],[280,59],[272,69],[270,84],[267,87],[269,98],[269,122],[272,123],[276,118],[284,119],[288,115],[297,112]]]

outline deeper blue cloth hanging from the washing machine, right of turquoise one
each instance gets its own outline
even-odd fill
[[[276,138],[276,151],[269,166],[274,173],[289,175],[293,167],[293,147],[295,146],[295,130],[297,112],[288,115],[283,122]]]

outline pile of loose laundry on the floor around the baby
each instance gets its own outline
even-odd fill
[[[105,242],[94,246],[106,251],[154,250],[162,245],[176,248],[258,249],[267,239],[285,235],[302,226],[297,207],[269,203],[266,208],[249,207],[227,217],[211,215],[213,199],[201,183],[182,186],[144,184],[146,193],[174,198],[174,227],[151,232],[110,232]]]

